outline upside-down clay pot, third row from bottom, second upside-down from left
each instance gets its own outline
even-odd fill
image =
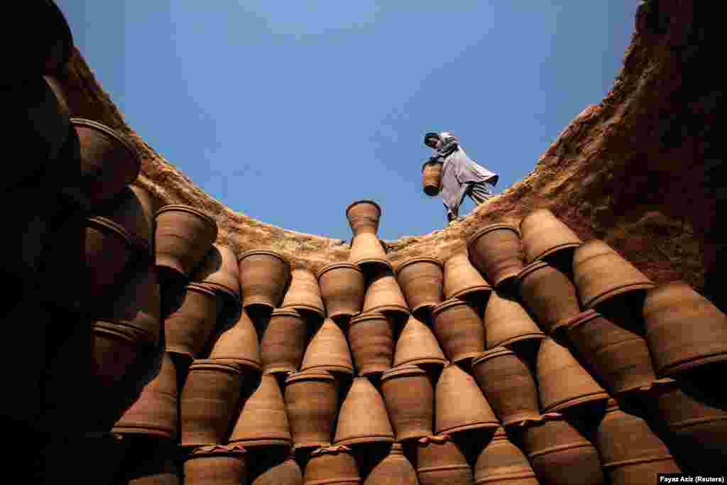
[[[348,342],[342,330],[331,318],[326,318],[305,349],[300,370],[340,372],[353,375],[353,362]]]

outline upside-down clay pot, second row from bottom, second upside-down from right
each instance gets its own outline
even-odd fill
[[[542,340],[537,355],[536,377],[543,412],[608,398],[568,348],[550,337]]]

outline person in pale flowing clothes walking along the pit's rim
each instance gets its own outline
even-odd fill
[[[476,164],[459,146],[459,139],[450,132],[427,133],[424,144],[434,151],[432,161],[443,162],[442,201],[447,210],[447,221],[452,225],[459,217],[459,206],[465,195],[482,204],[493,196],[492,189],[499,175]]]

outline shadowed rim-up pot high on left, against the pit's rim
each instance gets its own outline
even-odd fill
[[[141,159],[126,137],[97,121],[71,118],[81,143],[81,190],[91,205],[113,199],[134,182]]]

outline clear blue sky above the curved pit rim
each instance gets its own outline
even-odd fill
[[[350,240],[446,225],[422,192],[425,132],[528,175],[613,87],[636,0],[56,0],[127,124],[230,209]],[[467,199],[460,214],[473,208]]]

